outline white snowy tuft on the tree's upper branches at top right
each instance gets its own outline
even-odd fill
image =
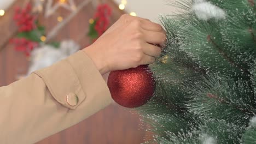
[[[226,13],[223,9],[204,0],[194,1],[192,10],[199,19],[205,21],[213,18],[216,20],[222,20],[226,17]]]

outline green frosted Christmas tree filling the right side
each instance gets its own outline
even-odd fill
[[[148,143],[256,143],[256,1],[177,0],[156,88],[138,110]]]

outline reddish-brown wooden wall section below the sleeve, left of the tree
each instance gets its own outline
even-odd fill
[[[139,130],[138,116],[118,105],[106,109],[85,119],[85,121],[62,131],[37,144],[57,143],[143,143],[145,132]],[[61,137],[61,138],[60,138]],[[61,141],[60,141],[61,139]]]

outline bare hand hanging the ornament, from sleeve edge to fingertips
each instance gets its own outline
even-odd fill
[[[161,25],[140,17],[123,15],[84,52],[104,75],[109,71],[151,64],[161,55],[166,33]]]

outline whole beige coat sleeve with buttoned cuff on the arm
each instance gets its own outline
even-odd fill
[[[34,143],[112,102],[102,75],[83,51],[0,87],[0,143]]]

